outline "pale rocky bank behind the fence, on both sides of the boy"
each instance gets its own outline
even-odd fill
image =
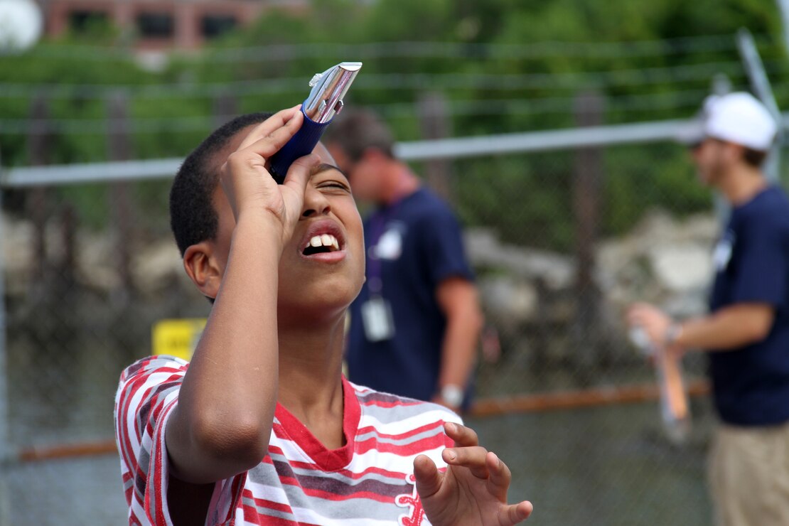
[[[48,226],[46,236],[47,257],[55,263],[62,250],[57,227]],[[606,325],[605,330],[622,333],[623,311],[637,300],[658,304],[680,317],[704,311],[718,231],[712,214],[678,221],[653,211],[626,236],[601,241],[593,274],[600,298],[596,319]],[[112,237],[80,230],[75,243],[73,274],[79,285],[96,291],[117,287],[120,278]],[[6,294],[24,296],[31,282],[31,223],[3,216],[2,244]],[[499,333],[518,339],[540,325],[569,330],[578,315],[573,257],[503,244],[495,232],[483,228],[466,231],[466,249],[477,269],[488,323]],[[194,293],[169,238],[136,246],[131,269],[137,292],[144,298],[172,297],[181,289],[186,295]]]

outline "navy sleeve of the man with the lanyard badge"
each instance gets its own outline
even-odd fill
[[[441,207],[421,226],[432,282],[437,284],[453,277],[472,281],[474,274],[463,249],[462,229],[452,211]]]

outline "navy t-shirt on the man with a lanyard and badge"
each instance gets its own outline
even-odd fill
[[[430,400],[438,386],[446,327],[436,288],[447,278],[473,279],[458,221],[443,200],[420,188],[365,219],[365,247],[367,282],[350,307],[348,379]],[[361,306],[379,283],[391,305],[394,335],[368,341]]]

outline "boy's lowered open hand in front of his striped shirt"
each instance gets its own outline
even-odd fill
[[[526,520],[532,503],[507,504],[510,468],[479,446],[477,433],[457,423],[445,423],[444,431],[454,447],[443,450],[447,472],[439,473],[436,464],[419,455],[413,461],[424,513],[434,526],[480,524],[509,526]]]

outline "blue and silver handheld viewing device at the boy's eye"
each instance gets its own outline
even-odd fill
[[[269,172],[280,185],[285,180],[288,168],[293,162],[312,152],[318,144],[323,130],[331,123],[331,119],[338,114],[344,103],[350,84],[361,69],[361,62],[340,62],[323,73],[316,73],[309,81],[312,91],[301,104],[301,113],[304,122],[296,135],[283,146],[275,155],[271,156]]]

